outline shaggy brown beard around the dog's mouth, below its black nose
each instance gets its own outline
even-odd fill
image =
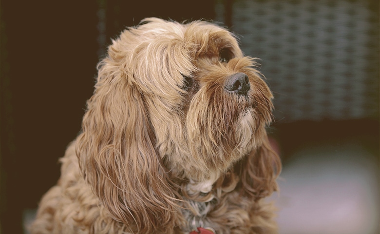
[[[191,157],[198,162],[197,169],[226,171],[261,144],[258,141],[270,121],[270,93],[257,74],[246,73],[255,85],[247,95],[228,93],[224,82],[219,82],[205,85],[192,98],[185,128]]]

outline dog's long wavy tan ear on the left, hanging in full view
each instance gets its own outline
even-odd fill
[[[114,61],[103,60],[76,142],[81,173],[130,232],[177,226],[179,195],[155,149],[144,97]]]

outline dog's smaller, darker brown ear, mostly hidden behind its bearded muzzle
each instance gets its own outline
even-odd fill
[[[241,176],[241,193],[255,200],[277,191],[276,178],[281,172],[281,159],[272,149],[265,134],[263,144],[236,165]]]

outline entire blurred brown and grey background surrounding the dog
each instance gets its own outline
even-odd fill
[[[0,232],[26,233],[80,131],[96,63],[145,17],[214,20],[261,59],[280,234],[379,233],[378,0],[0,2]]]

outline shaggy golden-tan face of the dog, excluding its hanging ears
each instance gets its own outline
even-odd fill
[[[124,79],[144,98],[170,169],[204,179],[261,145],[272,96],[227,30],[152,20],[125,31],[112,48]]]

